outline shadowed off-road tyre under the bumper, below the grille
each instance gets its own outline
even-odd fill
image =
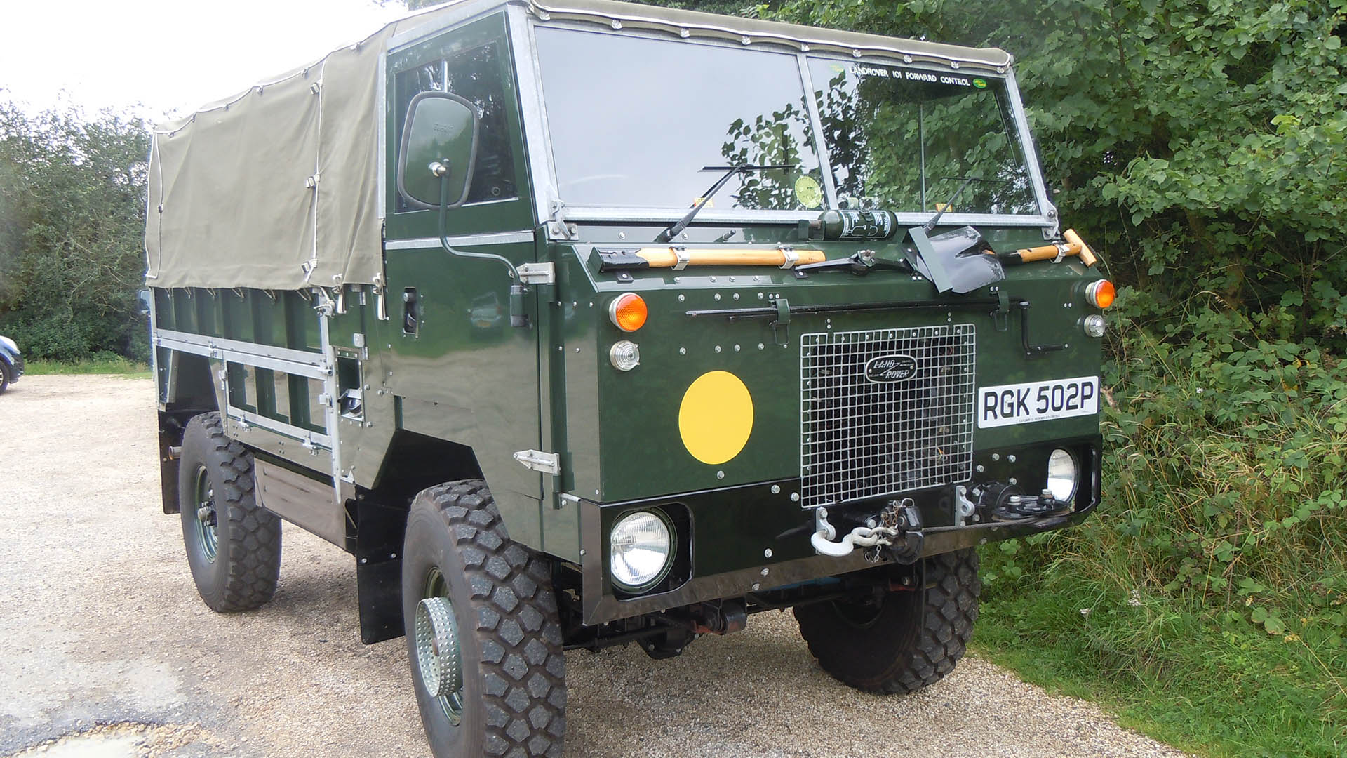
[[[963,657],[981,592],[977,552],[958,550],[927,558],[919,589],[799,606],[795,619],[810,653],[839,681],[866,692],[916,692]]]

